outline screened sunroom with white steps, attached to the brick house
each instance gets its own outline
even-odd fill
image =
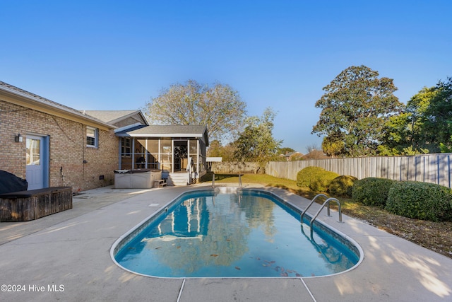
[[[119,169],[162,170],[168,185],[187,185],[206,174],[206,126],[137,125],[115,131]]]

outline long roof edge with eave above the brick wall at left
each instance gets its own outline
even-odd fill
[[[82,124],[88,124],[100,129],[116,128],[112,124],[104,122],[90,115],[85,115],[83,114],[83,112],[80,112],[76,109],[61,105],[60,103],[54,102],[53,100],[49,100],[47,98],[42,98],[42,96],[40,95],[35,95],[34,93],[30,93],[3,81],[0,81],[0,98],[1,100],[5,100],[6,102],[20,105],[25,108],[44,112],[49,115],[63,117],[68,120],[81,122]]]

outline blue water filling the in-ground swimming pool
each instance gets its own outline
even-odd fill
[[[312,277],[350,269],[359,252],[259,190],[182,195],[118,243],[114,260],[155,277]],[[307,223],[307,221],[305,221]]]

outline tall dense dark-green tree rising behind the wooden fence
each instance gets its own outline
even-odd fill
[[[319,122],[312,133],[326,135],[322,147],[335,156],[376,154],[383,124],[403,109],[393,95],[392,79],[379,78],[378,71],[367,66],[350,66],[327,86],[316,102],[321,108]]]

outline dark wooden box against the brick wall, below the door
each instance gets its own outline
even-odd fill
[[[47,187],[0,195],[0,221],[30,221],[72,209],[72,187]]]

